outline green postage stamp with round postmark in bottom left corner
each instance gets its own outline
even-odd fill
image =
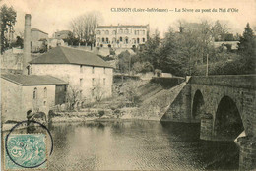
[[[46,169],[44,134],[12,134],[5,142],[5,169]]]

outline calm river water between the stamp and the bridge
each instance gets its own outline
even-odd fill
[[[93,121],[53,124],[49,130],[49,170],[238,169],[238,146],[201,141],[197,124]]]

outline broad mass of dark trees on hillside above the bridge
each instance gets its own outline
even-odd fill
[[[180,32],[169,28],[161,40],[156,30],[145,43],[145,48],[132,58],[132,69],[136,72],[160,69],[176,76],[205,75],[208,59],[209,70],[211,68],[209,74],[254,73],[256,42],[249,25],[240,37],[239,53],[232,51],[229,44],[221,48],[213,45],[214,38],[220,36],[224,40],[233,39],[232,34],[228,34],[226,23],[217,21],[211,25],[208,21],[200,24],[183,22],[180,27]]]

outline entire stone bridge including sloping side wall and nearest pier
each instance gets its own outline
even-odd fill
[[[234,141],[240,170],[256,169],[256,75],[193,76],[160,121],[201,123],[200,139]]]

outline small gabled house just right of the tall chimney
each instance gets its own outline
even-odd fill
[[[32,28],[31,31],[32,52],[39,52],[41,49],[47,49],[48,33],[37,28]]]

